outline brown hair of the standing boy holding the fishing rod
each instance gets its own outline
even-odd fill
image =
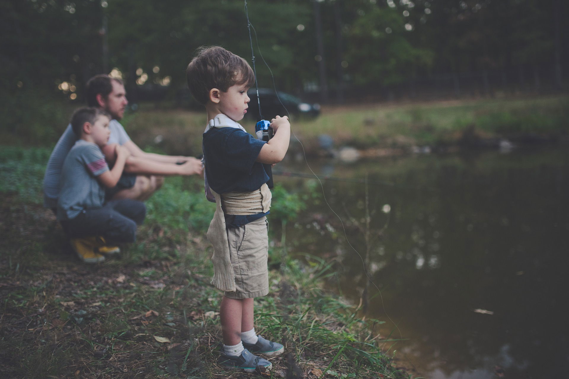
[[[252,87],[255,74],[247,61],[221,46],[200,47],[186,69],[188,88],[201,105],[209,100],[209,91],[226,92],[239,84]]]

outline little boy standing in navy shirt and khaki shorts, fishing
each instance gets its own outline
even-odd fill
[[[237,121],[247,112],[247,90],[255,77],[249,64],[224,48],[201,48],[187,69],[188,87],[205,106],[208,125],[203,135],[205,179],[216,211],[207,237],[213,245],[212,284],[221,299],[224,368],[253,372],[271,363],[255,354],[277,356],[281,344],[255,334],[253,300],[269,293],[266,215],[271,192],[263,164],[280,162],[288,149],[286,116],[271,121],[274,137],[253,138]]]

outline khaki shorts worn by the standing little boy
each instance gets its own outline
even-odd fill
[[[269,293],[269,237],[265,216],[227,230],[229,257],[235,273],[236,291],[225,292],[232,299],[248,299]]]

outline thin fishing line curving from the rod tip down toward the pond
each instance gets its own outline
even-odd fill
[[[273,70],[271,70],[269,64],[267,64],[267,61],[265,60],[265,58],[263,57],[263,54],[262,54],[262,52],[261,52],[261,48],[259,47],[259,39],[257,38],[257,31],[255,30],[255,27],[253,26],[253,24],[251,24],[251,22],[250,22],[250,20],[249,20],[249,12],[248,12],[248,9],[247,9],[247,0],[245,0],[245,15],[246,15],[246,18],[247,18],[247,26],[248,26],[248,29],[249,29],[249,42],[250,42],[250,45],[251,45],[251,55],[254,56],[254,54],[253,54],[253,40],[251,39],[251,29],[250,29],[250,28],[253,28],[253,32],[254,32],[254,34],[255,34],[255,41],[256,41],[256,43],[257,43],[257,50],[258,50],[258,52],[259,52],[259,56],[261,56],[261,59],[263,60],[263,63],[265,63],[265,65],[267,66],[267,69],[269,69],[269,72],[270,72],[270,74],[271,74],[271,79],[272,79],[272,81],[273,81],[273,88],[274,88],[274,90],[275,90],[275,95],[277,95],[277,99],[278,99],[279,103],[281,103],[281,106],[284,108],[284,111],[286,111],[286,113],[287,113],[287,115],[288,115],[288,119],[290,119],[290,113],[288,112],[288,109],[286,108],[286,106],[284,106],[284,104],[283,104],[282,101],[281,101],[281,98],[279,97],[278,90],[277,90],[277,84],[275,83],[275,77],[274,77],[274,74],[273,74]],[[253,64],[254,64],[254,60],[253,60]],[[255,85],[257,85],[257,73],[256,73],[256,72],[254,72],[254,73],[255,73]],[[258,89],[257,89],[257,99],[259,99]],[[261,108],[259,107],[259,115],[260,115],[260,111],[261,111]],[[389,314],[387,314],[387,310],[386,310],[386,308],[385,308],[385,302],[384,302],[383,294],[381,293],[380,288],[379,288],[379,287],[375,284],[375,282],[372,280],[372,277],[370,276],[368,270],[366,269],[364,258],[361,256],[361,254],[357,251],[357,249],[356,249],[356,248],[352,245],[352,243],[349,241],[349,239],[348,239],[348,232],[346,231],[346,228],[345,228],[345,226],[344,226],[344,221],[342,220],[342,218],[340,217],[340,215],[338,215],[338,214],[336,213],[336,211],[332,209],[332,206],[328,203],[328,199],[326,198],[326,194],[325,194],[325,191],[324,191],[324,185],[323,185],[322,181],[320,180],[320,178],[318,177],[318,175],[314,172],[314,170],[312,170],[310,164],[308,164],[308,159],[307,159],[307,156],[306,156],[306,150],[304,149],[304,144],[303,144],[302,141],[300,141],[300,139],[296,136],[296,134],[295,134],[295,132],[294,132],[294,130],[293,130],[292,128],[291,128],[291,132],[292,132],[292,135],[294,136],[294,138],[296,139],[296,141],[298,141],[298,143],[300,144],[300,147],[302,147],[302,152],[303,152],[303,155],[304,155],[304,161],[306,162],[306,166],[308,167],[308,169],[310,170],[310,172],[314,175],[314,177],[316,178],[316,180],[318,180],[318,182],[319,182],[319,184],[320,184],[320,188],[321,188],[321,190],[322,190],[322,195],[323,195],[323,197],[324,197],[324,202],[326,203],[326,205],[328,206],[328,208],[332,211],[332,213],[335,214],[336,217],[340,220],[340,224],[341,224],[342,229],[343,229],[343,231],[344,231],[344,236],[345,236],[345,239],[346,239],[346,241],[347,241],[349,247],[351,247],[351,248],[353,249],[353,251],[356,252],[356,254],[360,257],[361,262],[362,262],[362,265],[363,265],[363,268],[364,268],[364,273],[365,273],[366,277],[368,278],[368,280],[370,281],[370,283],[373,284],[373,286],[377,289],[378,293],[380,294],[381,305],[382,305],[382,307],[384,308],[384,313],[385,313],[385,315],[387,316],[387,319],[389,319],[390,322],[393,323],[393,325],[395,326],[395,328],[397,328],[397,331],[399,332],[399,336],[401,336],[401,339],[403,339],[403,334],[402,334],[401,330],[399,329],[399,327],[397,326],[397,324],[393,321],[393,319],[391,319],[391,317],[389,316]],[[403,352],[403,354],[405,354],[405,352]],[[413,366],[415,366],[415,365],[413,364],[413,362],[411,362],[410,360],[409,360],[409,363],[411,363]]]

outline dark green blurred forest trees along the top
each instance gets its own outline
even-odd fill
[[[249,0],[259,85],[322,103],[549,93],[566,88],[566,1]],[[250,61],[242,0],[1,0],[3,128],[79,105],[121,74],[131,103],[187,107],[201,45]],[[253,37],[255,38],[255,36]],[[32,112],[33,110],[33,112]],[[37,115],[36,115],[37,116]]]

